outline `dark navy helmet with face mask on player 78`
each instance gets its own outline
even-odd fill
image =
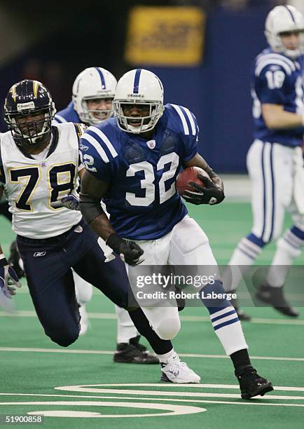
[[[4,120],[18,146],[40,147],[49,138],[55,106],[50,93],[38,81],[20,81],[8,91]]]

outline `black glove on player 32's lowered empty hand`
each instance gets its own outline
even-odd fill
[[[131,266],[139,265],[144,261],[144,258],[140,259],[144,250],[142,250],[137,243],[134,243],[134,241],[123,240],[123,238],[120,238],[116,233],[109,236],[106,240],[106,245],[111,247],[114,252],[119,254],[124,262]]]

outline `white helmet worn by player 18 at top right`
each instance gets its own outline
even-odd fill
[[[300,34],[298,49],[287,49],[280,37],[284,32],[303,32]],[[304,53],[304,18],[293,6],[276,6],[268,13],[265,21],[265,36],[275,52],[284,53],[295,59]]]

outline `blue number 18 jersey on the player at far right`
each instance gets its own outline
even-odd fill
[[[284,110],[303,113],[303,57],[293,61],[270,48],[256,57],[252,76],[254,137],[264,142],[300,146],[303,127],[270,130],[265,125],[261,104],[281,104]]]

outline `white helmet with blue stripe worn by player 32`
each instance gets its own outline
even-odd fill
[[[163,83],[156,74],[145,69],[127,71],[118,81],[113,101],[114,113],[121,130],[139,134],[153,130],[164,111]],[[138,126],[130,125],[132,117],[125,116],[123,104],[148,104],[150,113],[141,117]]]

